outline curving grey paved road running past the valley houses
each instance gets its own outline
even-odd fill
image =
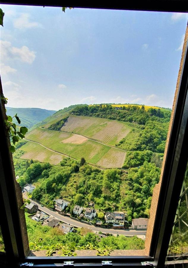
[[[37,202],[35,202],[37,203]],[[38,203],[37,203],[38,204]],[[46,207],[42,207],[40,204],[38,204],[38,207],[41,211],[55,217],[56,219],[59,219],[62,222],[65,222],[67,224],[71,224],[75,227],[79,227],[79,228],[89,228],[93,231],[96,232],[105,232],[105,233],[112,233],[112,234],[122,234],[122,235],[126,235],[126,236],[136,236],[136,235],[146,235],[146,230],[131,230],[131,229],[126,229],[126,230],[114,230],[114,229],[106,229],[106,228],[100,228],[100,227],[95,227],[94,225],[88,225],[84,222],[78,222],[74,219],[71,219],[67,216],[62,216],[60,215],[58,212],[56,211],[51,211],[50,209],[46,208]]]

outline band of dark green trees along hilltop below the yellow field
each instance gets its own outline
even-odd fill
[[[121,110],[116,110],[112,105],[78,105],[71,113],[79,116],[94,116],[100,118],[107,118],[119,120],[124,122],[131,122],[137,124],[146,124],[148,120],[160,119],[160,122],[168,122],[170,120],[171,111],[162,111],[161,109],[149,108],[147,111],[144,105],[139,106],[120,107]]]

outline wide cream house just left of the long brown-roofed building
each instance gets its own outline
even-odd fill
[[[123,212],[106,212],[106,223],[112,223],[113,228],[123,228],[125,222],[125,214]]]

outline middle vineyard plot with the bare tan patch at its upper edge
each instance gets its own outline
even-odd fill
[[[103,156],[110,150],[106,161],[103,161],[101,167],[121,167],[126,152],[111,148],[105,144],[89,140],[80,135],[65,133],[55,130],[42,129],[40,127],[26,135],[27,139],[37,141],[45,147],[62,152],[70,157],[80,160],[84,157],[88,163],[97,164]],[[83,140],[84,138],[84,140]],[[23,147],[21,147],[22,150]],[[113,149],[113,150],[111,150]],[[32,147],[31,147],[31,151]],[[116,157],[113,156],[116,155]]]

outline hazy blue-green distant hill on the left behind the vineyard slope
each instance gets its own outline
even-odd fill
[[[7,115],[14,116],[16,113],[20,118],[21,125],[27,128],[34,126],[56,111],[40,108],[12,108],[6,107]],[[17,123],[18,124],[18,123]]]

